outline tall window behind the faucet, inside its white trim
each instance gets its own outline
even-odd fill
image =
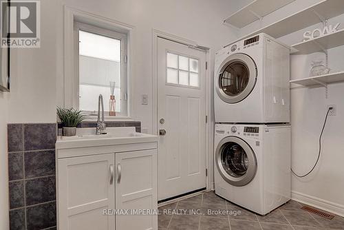
[[[109,116],[109,100],[114,95],[116,116],[128,116],[127,34],[83,23],[75,25],[78,109],[96,114],[102,94]]]

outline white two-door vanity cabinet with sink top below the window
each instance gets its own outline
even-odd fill
[[[58,229],[158,230],[158,216],[149,213],[158,209],[156,140],[58,140]]]

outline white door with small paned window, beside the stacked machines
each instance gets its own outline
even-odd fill
[[[206,52],[158,39],[158,198],[206,187]]]

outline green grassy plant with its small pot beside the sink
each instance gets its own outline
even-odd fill
[[[74,108],[57,107],[57,116],[62,123],[63,136],[76,135],[76,127],[86,118],[81,112]]]

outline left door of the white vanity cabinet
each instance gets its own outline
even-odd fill
[[[114,230],[114,157],[58,159],[58,229]]]

